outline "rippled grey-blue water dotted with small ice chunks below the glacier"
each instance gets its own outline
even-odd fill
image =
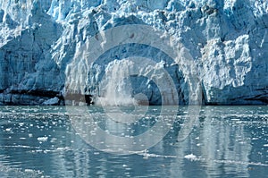
[[[124,129],[122,123],[108,122],[103,109],[89,109],[110,134],[134,137],[152,127],[160,112],[150,106],[137,124]],[[116,155],[82,140],[65,107],[2,106],[0,177],[267,176],[267,106],[204,106],[190,135],[178,142],[185,114],[180,108],[172,130],[155,147]]]

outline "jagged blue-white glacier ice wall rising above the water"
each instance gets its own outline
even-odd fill
[[[181,46],[179,58],[155,45],[161,43],[157,38],[143,44],[142,37],[151,36],[142,31],[128,39],[118,31],[106,37],[107,30],[121,27],[121,34],[127,34],[137,24],[172,37],[172,47]],[[61,104],[67,91],[103,95],[111,90],[105,82],[114,80],[108,76],[105,81],[105,72],[128,75],[125,71],[134,69],[123,59],[137,56],[154,64],[139,64],[144,69],[132,73],[127,86],[132,86],[130,95],[142,93],[150,104],[161,104],[162,92],[172,92],[171,86],[158,87],[163,76],[157,70],[163,69],[180,104],[188,103],[191,71],[206,104],[264,105],[267,30],[268,3],[263,0],[0,0],[0,105]]]

